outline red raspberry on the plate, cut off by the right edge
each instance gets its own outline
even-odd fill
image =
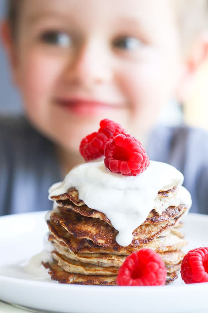
[[[208,282],[208,247],[190,250],[184,256],[181,277],[186,284]]]

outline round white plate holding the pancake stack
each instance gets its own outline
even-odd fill
[[[208,283],[185,285],[181,278],[167,286],[144,287],[65,285],[40,280],[35,275],[25,278],[19,264],[43,249],[45,213],[0,218],[1,300],[59,313],[208,311]],[[184,221],[189,241],[184,251],[208,246],[208,216],[189,213]]]

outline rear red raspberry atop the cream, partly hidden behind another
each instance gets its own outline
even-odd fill
[[[80,142],[80,154],[85,161],[97,159],[104,155],[106,142],[124,132],[125,130],[120,124],[104,119],[100,121],[98,132],[94,132],[82,139]]]

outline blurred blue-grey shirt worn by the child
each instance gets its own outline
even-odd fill
[[[208,133],[187,126],[155,128],[148,141],[151,160],[184,175],[191,212],[208,213]],[[0,215],[50,210],[48,188],[62,180],[55,148],[24,117],[0,118]]]

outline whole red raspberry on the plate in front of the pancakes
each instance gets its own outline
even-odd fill
[[[129,255],[119,269],[120,286],[165,285],[167,271],[159,254],[143,248]]]

